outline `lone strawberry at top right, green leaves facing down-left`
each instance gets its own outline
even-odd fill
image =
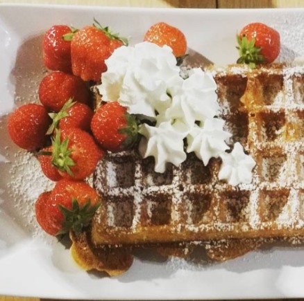
[[[280,53],[280,34],[262,23],[246,25],[237,35],[237,43],[237,63],[249,64],[252,68],[256,64],[273,62]]]

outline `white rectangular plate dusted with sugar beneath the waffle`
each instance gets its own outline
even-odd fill
[[[93,18],[142,41],[157,21],[182,30],[188,45],[216,64],[237,59],[235,35],[262,21],[281,35],[279,60],[304,55],[304,10],[182,10],[78,6],[0,6],[0,294],[69,299],[228,299],[304,297],[304,250],[271,248],[218,264],[137,258],[119,277],[81,271],[69,250],[37,227],[33,206],[52,183],[37,161],[12,145],[7,113],[37,101],[46,73],[41,38],[54,24],[76,28]]]

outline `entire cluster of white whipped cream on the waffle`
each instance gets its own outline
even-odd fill
[[[194,68],[187,78],[181,77],[171,48],[150,42],[121,46],[105,64],[108,69],[98,86],[102,100],[117,101],[142,120],[139,152],[155,158],[155,172],[164,172],[167,163],[180,165],[194,152],[204,165],[212,157],[222,158],[219,179],[231,185],[251,182],[255,162],[242,145],[225,152],[231,134],[217,118],[217,84],[211,73]]]

